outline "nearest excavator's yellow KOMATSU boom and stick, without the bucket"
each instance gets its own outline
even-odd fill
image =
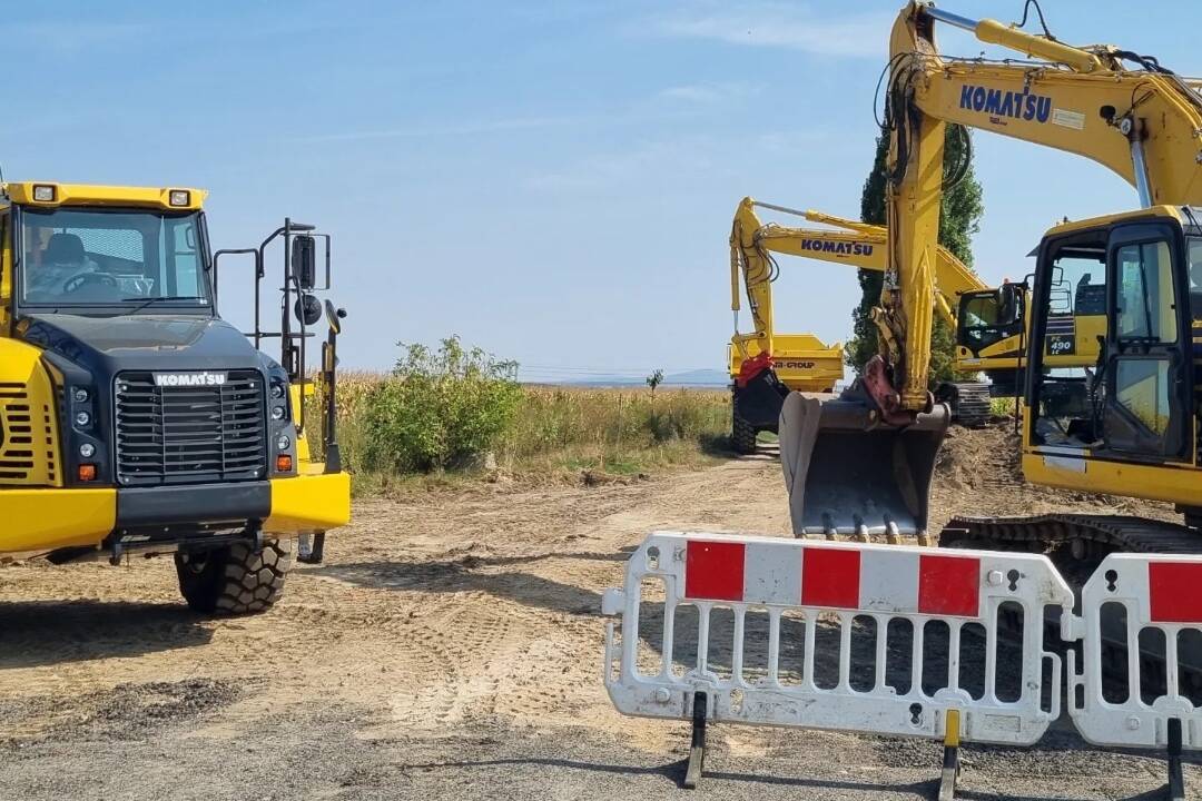
[[[942,56],[936,22],[1033,60]],[[1198,83],[1112,46],[1077,48],[995,20],[924,2],[899,14],[889,41],[887,192],[889,277],[875,318],[892,385],[874,388],[888,412],[929,407],[930,286],[942,198],[944,128],[992,131],[1096,161],[1132,184],[1141,204],[1202,203]],[[1132,62],[1138,68],[1127,68]],[[894,389],[895,387],[895,389]]]

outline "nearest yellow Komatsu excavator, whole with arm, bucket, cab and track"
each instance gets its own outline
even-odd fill
[[[1025,60],[941,55],[938,23]],[[941,544],[1049,551],[1202,550],[1202,405],[1191,336],[1202,317],[1202,82],[1113,46],[1072,47],[995,20],[910,2],[891,37],[882,352],[838,399],[792,394],[781,462],[798,536],[927,534],[948,412],[927,389],[947,124],[1091,159],[1137,189],[1141,209],[1043,237],[1030,295],[1022,464],[1036,484],[1167,501],[1180,522],[1118,515],[958,518]],[[954,172],[951,180],[954,180]],[[1071,276],[1077,276],[1073,281]],[[1101,282],[1106,330],[1088,370],[1045,354],[1058,287]]]

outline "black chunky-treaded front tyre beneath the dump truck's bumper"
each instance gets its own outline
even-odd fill
[[[262,550],[238,543],[203,554],[175,554],[179,591],[206,615],[267,611],[284,593],[294,542],[264,539]]]

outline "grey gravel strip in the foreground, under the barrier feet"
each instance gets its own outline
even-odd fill
[[[125,688],[129,698],[138,688]],[[0,749],[5,799],[929,799],[936,743],[826,733],[712,729],[698,790],[679,789],[688,730],[664,724],[664,753],[585,727],[516,729],[481,721],[438,734],[364,736],[379,710],[319,698],[237,733],[212,688],[169,722],[135,713]],[[163,693],[160,686],[151,693]],[[222,694],[226,691],[222,691]],[[126,701],[113,700],[112,709]],[[141,703],[135,706],[142,707]],[[153,716],[151,716],[153,717]],[[209,724],[209,725],[206,725]],[[201,729],[197,730],[196,727]],[[220,727],[218,727],[220,729]],[[1155,799],[1164,763],[1089,749],[1053,731],[1033,749],[966,747],[964,799]],[[1202,770],[1186,769],[1202,782]]]

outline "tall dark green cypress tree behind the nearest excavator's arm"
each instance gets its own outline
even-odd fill
[[[968,137],[960,136],[953,126],[947,126],[944,139],[944,172],[954,169],[962,159],[971,159],[964,150]],[[881,131],[876,137],[876,155],[873,159],[873,171],[864,181],[864,191],[859,197],[859,219],[874,225],[885,225],[885,162],[889,153],[888,131]],[[944,192],[944,202],[939,213],[939,244],[952,251],[969,268],[972,267],[972,234],[980,231],[984,203],[981,199],[981,184],[977,183],[971,162],[960,181]],[[873,323],[870,310],[881,298],[883,276],[880,273],[859,270],[859,305],[851,312],[855,333],[845,346],[847,366],[857,372],[864,363],[876,355],[876,324]],[[956,353],[956,336],[948,325],[939,317],[930,336],[930,378],[932,384],[939,381],[951,381],[953,376],[952,360]]]

